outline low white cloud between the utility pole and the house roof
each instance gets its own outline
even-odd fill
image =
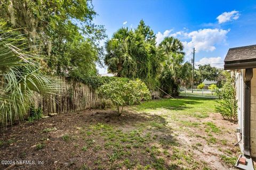
[[[223,68],[223,58],[221,57],[204,57],[199,60],[199,62],[195,62],[195,67],[196,69],[198,68],[198,65],[205,65],[205,64],[210,64],[212,67],[217,67],[217,68]]]

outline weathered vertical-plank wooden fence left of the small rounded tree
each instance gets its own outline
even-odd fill
[[[35,97],[35,107],[41,107],[44,115],[99,108],[106,103],[86,84],[65,77],[58,79],[61,86],[59,94],[50,96],[36,95]]]

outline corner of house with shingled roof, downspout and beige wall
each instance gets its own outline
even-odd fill
[[[224,62],[224,69],[231,70],[235,76],[238,100],[237,137],[242,155],[236,166],[253,169],[252,159],[256,159],[256,45],[230,48]]]

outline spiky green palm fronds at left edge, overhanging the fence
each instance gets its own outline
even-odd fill
[[[28,116],[35,93],[53,94],[58,84],[40,74],[36,57],[26,53],[27,44],[12,31],[0,32],[0,124]]]

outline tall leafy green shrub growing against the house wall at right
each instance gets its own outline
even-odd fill
[[[237,99],[235,90],[235,80],[230,77],[230,73],[226,75],[227,81],[221,90],[217,90],[219,97],[215,109],[219,112],[223,118],[231,122],[237,122]]]

